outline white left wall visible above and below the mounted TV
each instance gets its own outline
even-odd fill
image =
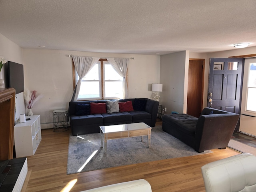
[[[23,64],[22,62],[22,48],[0,34],[0,55],[4,56],[7,61],[16,62]],[[5,66],[4,64],[1,72],[4,74]],[[20,102],[21,101],[21,102]],[[15,120],[20,118],[20,114],[25,112],[25,105],[23,102],[23,93],[16,94],[16,106],[15,106]]]

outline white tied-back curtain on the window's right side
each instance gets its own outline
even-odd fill
[[[128,98],[128,86],[126,82],[126,72],[128,69],[129,58],[107,58],[108,62],[113,66],[114,70],[122,76],[123,79],[123,99]]]

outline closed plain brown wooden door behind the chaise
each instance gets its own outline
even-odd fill
[[[199,117],[203,105],[204,59],[190,59],[188,67],[187,114]]]

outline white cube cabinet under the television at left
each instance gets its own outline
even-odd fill
[[[30,120],[14,126],[14,144],[16,157],[34,155],[42,139],[40,115],[26,116]]]

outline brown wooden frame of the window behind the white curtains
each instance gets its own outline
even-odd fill
[[[120,98],[104,98],[104,89],[105,89],[105,80],[104,80],[104,62],[108,62],[106,58],[100,58],[98,61],[100,61],[100,78],[101,78],[101,98],[81,98],[78,99],[79,101],[86,101],[86,100],[106,100],[106,99],[120,99]],[[72,74],[73,74],[73,90],[76,88],[76,70],[74,61],[72,60]],[[112,80],[114,81],[114,80]],[[128,87],[128,68],[126,72],[126,83]]]

